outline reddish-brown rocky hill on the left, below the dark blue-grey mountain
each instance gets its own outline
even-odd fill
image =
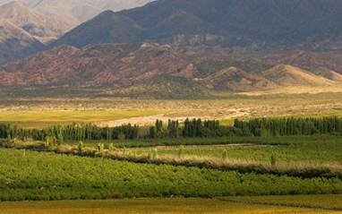
[[[184,59],[185,58],[185,59]],[[132,85],[150,76],[173,73],[186,57],[168,47],[144,44],[54,47],[0,66],[1,85]]]

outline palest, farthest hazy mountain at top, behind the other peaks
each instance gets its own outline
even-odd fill
[[[39,13],[73,23],[88,21],[106,10],[121,11],[151,1],[154,0],[18,0]],[[0,0],[0,4],[10,2],[13,0]]]

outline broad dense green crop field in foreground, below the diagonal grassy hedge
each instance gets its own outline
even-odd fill
[[[338,178],[240,174],[0,149],[0,200],[342,193]]]

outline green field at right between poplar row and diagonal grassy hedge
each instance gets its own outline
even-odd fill
[[[281,141],[281,140],[280,140]],[[224,152],[229,159],[270,161],[271,155],[277,156],[282,163],[310,162],[310,163],[341,163],[342,139],[337,136],[326,136],[323,139],[295,141],[288,143],[237,143],[233,145],[188,146],[184,147],[184,155],[196,157],[222,158]],[[154,148],[158,155],[177,155],[179,147]],[[146,150],[135,150],[137,154],[144,154]]]

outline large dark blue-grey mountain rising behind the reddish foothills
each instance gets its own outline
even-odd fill
[[[159,0],[101,13],[55,46],[154,41],[255,50],[342,49],[341,12],[340,0]]]

